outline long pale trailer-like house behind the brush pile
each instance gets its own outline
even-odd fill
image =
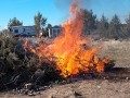
[[[36,36],[37,30],[35,26],[10,26],[9,30],[12,32],[15,36]]]

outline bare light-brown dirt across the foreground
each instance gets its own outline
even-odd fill
[[[74,84],[55,86],[38,96],[5,94],[3,98],[130,98],[129,82],[80,81]]]

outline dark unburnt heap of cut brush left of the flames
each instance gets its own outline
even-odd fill
[[[0,89],[25,83],[44,85],[61,78],[54,63],[39,62],[36,54],[24,50],[23,44],[23,39],[6,30],[0,34]]]

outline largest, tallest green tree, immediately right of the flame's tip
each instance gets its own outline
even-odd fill
[[[82,9],[83,14],[83,34],[89,35],[91,30],[96,28],[96,15],[93,14],[92,10]]]

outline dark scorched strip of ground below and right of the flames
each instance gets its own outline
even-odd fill
[[[103,73],[80,73],[68,77],[68,83],[79,81],[105,81],[108,82],[130,82],[130,68],[110,68]]]

